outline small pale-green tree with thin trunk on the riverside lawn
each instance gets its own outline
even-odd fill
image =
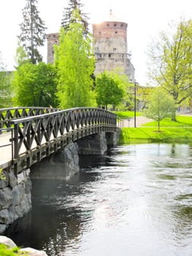
[[[160,121],[172,116],[173,110],[174,99],[166,91],[158,87],[153,90],[144,113],[148,118],[153,118],[158,122],[158,132],[160,132]]]

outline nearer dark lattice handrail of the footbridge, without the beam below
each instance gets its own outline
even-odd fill
[[[34,147],[85,127],[117,127],[116,114],[100,108],[72,108],[10,121],[14,134],[14,159]],[[23,151],[22,151],[23,153]]]

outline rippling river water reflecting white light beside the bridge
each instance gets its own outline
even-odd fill
[[[68,183],[33,180],[33,209],[9,237],[47,255],[192,255],[191,146],[118,146],[80,162]]]

